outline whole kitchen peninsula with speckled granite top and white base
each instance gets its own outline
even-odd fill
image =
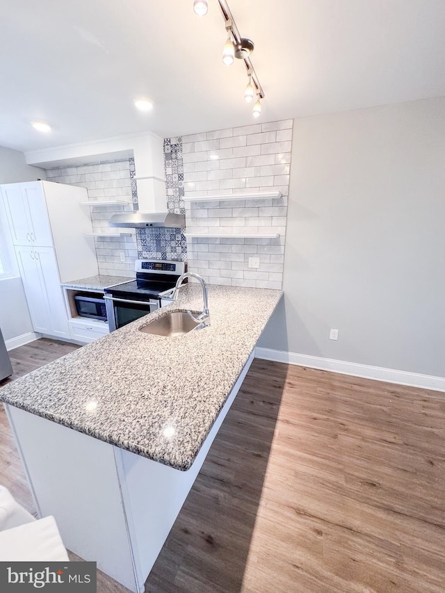
[[[0,389],[40,516],[141,592],[282,293],[209,286],[211,325],[140,332],[202,309],[200,286]],[[74,430],[70,430],[74,429]]]

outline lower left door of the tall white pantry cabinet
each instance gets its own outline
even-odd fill
[[[51,319],[49,317],[47,294],[33,247],[16,247],[15,253],[17,254],[17,263],[22,276],[33,329],[41,334],[50,334]]]

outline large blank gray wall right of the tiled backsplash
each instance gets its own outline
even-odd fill
[[[295,120],[286,299],[259,346],[445,376],[444,188],[445,97]]]

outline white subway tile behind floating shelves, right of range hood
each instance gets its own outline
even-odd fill
[[[215,232],[219,227],[222,235],[216,239],[188,240],[189,269],[202,271],[209,282],[281,288],[292,126],[293,120],[286,120],[183,138],[183,146],[189,144],[184,149],[187,195],[233,195],[268,188],[282,192],[280,198],[261,202],[243,200],[241,196],[230,202],[186,205],[188,231]],[[211,160],[213,154],[219,158]],[[283,236],[276,239],[224,236],[246,233]],[[200,250],[202,246],[207,251]],[[258,269],[248,267],[252,254],[259,257]]]

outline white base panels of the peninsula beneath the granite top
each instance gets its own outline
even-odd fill
[[[193,465],[179,471],[6,404],[40,517],[65,546],[135,593],[144,583],[252,364],[250,354]]]

